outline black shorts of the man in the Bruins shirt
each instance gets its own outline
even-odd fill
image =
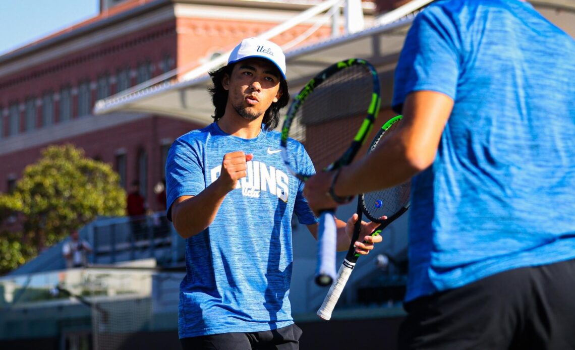
[[[222,333],[182,338],[183,350],[297,350],[300,347],[301,329],[290,325],[274,330],[252,333]]]

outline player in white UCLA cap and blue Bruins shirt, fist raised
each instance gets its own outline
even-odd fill
[[[227,66],[210,73],[213,124],[179,137],[168,153],[167,217],[186,239],[178,313],[184,349],[298,348],[288,299],[292,215],[314,237],[317,219],[273,130],[289,101],[285,67],[278,45],[241,41]],[[313,171],[301,144],[294,157]],[[348,249],[356,220],[338,220],[339,250]],[[364,223],[359,253],[381,241],[369,236],[375,226]]]

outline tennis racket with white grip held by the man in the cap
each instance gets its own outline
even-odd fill
[[[367,151],[368,153],[373,151],[373,149],[375,149],[379,144],[379,141],[383,140],[384,137],[389,137],[393,134],[394,130],[397,128],[398,121],[400,121],[401,118],[402,116],[393,117],[386,122],[384,126],[382,126],[372,141],[370,148]],[[317,310],[317,316],[324,320],[329,320],[331,318],[333,308],[338,302],[343,288],[346,286],[347,280],[350,278],[351,271],[354,270],[355,263],[359,257],[359,254],[355,252],[354,243],[358,240],[359,232],[361,231],[362,214],[365,214],[365,216],[372,222],[378,222],[380,224],[371,234],[371,236],[377,236],[389,224],[409,209],[410,187],[410,182],[408,181],[388,189],[359,195],[357,207],[358,221],[354,226],[354,234],[351,238],[350,249],[348,249],[342,266],[339,268],[338,277],[336,278],[335,283],[333,283],[329,288],[323,304],[320,309]],[[382,220],[381,217],[383,216],[387,216],[388,218],[386,220]]]

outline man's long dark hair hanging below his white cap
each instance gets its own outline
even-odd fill
[[[214,104],[215,110],[214,121],[220,120],[224,116],[225,105],[228,102],[228,90],[224,89],[222,85],[222,80],[225,75],[231,76],[233,66],[235,63],[228,64],[225,67],[221,67],[216,71],[209,72],[212,77],[213,87],[208,89],[210,95],[212,95],[212,102]],[[278,72],[279,74],[279,72]],[[273,130],[279,124],[279,110],[287,105],[289,102],[289,92],[287,91],[287,80],[283,79],[283,76],[279,78],[279,91],[281,91],[281,97],[279,97],[278,102],[271,103],[271,106],[266,110],[263,116],[263,124],[266,125],[266,130]]]

